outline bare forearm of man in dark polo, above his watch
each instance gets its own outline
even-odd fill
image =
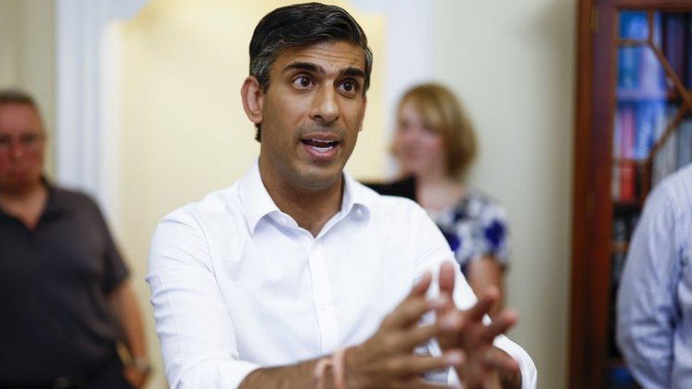
[[[125,345],[133,358],[147,357],[147,342],[144,334],[142,312],[130,284],[125,281],[111,296],[118,320],[123,329]]]

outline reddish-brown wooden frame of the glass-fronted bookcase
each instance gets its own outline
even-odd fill
[[[610,255],[627,250],[615,247],[611,237],[616,204],[610,193],[614,162],[612,156],[616,96],[617,50],[622,45],[651,47],[674,83],[675,96],[681,107],[668,124],[662,139],[652,147],[644,162],[641,207],[652,172],[652,161],[667,138],[674,134],[683,116],[692,112],[692,94],[674,74],[664,53],[647,40],[618,38],[618,12],[621,9],[657,11],[692,11],[691,0],[580,0],[577,34],[577,96],[574,167],[574,202],[572,224],[571,308],[569,387],[603,388],[606,368],[620,366],[622,361],[609,357],[608,312],[610,298]],[[653,11],[648,16],[653,28]],[[679,95],[679,96],[677,96]],[[666,96],[669,97],[669,96]],[[631,161],[628,161],[631,162]]]

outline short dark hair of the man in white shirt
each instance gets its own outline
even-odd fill
[[[269,89],[269,72],[283,50],[325,41],[345,40],[362,47],[365,55],[363,93],[370,86],[372,51],[357,21],[344,9],[320,3],[295,4],[277,8],[262,18],[250,40],[250,75],[259,87]],[[260,126],[255,139],[259,142]]]

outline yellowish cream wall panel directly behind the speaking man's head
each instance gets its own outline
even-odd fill
[[[116,231],[145,310],[155,377],[165,385],[159,342],[144,281],[157,222],[185,203],[233,184],[255,161],[255,128],[240,102],[247,46],[259,19],[289,1],[152,1],[111,33],[120,42],[122,90],[118,122],[121,193]],[[345,8],[349,8],[346,6]],[[381,55],[381,16],[357,19]],[[117,49],[120,47],[120,49]],[[376,62],[364,130],[347,169],[359,178],[384,176],[386,141],[381,61]],[[116,67],[117,68],[117,67]]]

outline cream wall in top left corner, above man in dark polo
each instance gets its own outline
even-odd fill
[[[0,88],[24,89],[35,97],[48,129],[46,172],[55,173],[55,34],[53,0],[0,1]]]

